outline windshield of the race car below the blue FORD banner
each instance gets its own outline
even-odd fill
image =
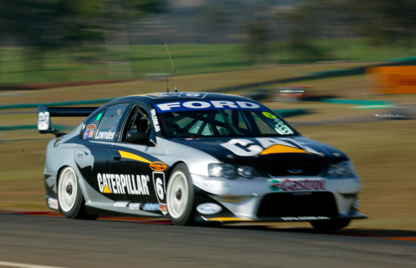
[[[185,110],[159,113],[166,137],[287,136],[296,132],[266,110]]]

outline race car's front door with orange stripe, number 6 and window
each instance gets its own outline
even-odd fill
[[[166,204],[166,164],[152,155],[155,149],[153,144],[126,141],[131,133],[150,136],[153,127],[149,113],[141,106],[132,106],[123,126],[121,137],[114,142],[108,159],[108,169],[116,180],[117,192],[121,192],[120,200],[134,203],[137,206],[135,209],[163,212]]]

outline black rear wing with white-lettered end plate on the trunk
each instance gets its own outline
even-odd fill
[[[51,117],[87,117],[98,107],[46,107],[37,106],[37,129],[40,133],[53,133],[60,137],[65,133],[53,128]]]

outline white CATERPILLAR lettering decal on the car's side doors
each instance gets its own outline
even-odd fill
[[[103,194],[149,195],[148,175],[97,174],[98,188]]]

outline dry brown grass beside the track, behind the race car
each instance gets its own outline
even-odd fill
[[[325,65],[326,66],[326,65]],[[324,66],[324,67],[325,67]],[[306,66],[302,72],[316,67]],[[329,66],[328,66],[329,68]],[[177,84],[184,90],[239,85],[250,81],[271,80],[280,76],[300,74],[298,69],[273,67],[241,72],[204,74],[179,77]],[[373,99],[415,104],[416,95],[384,96],[367,94],[365,78],[351,76],[311,81],[318,92],[340,94],[350,99]],[[173,83],[171,83],[173,85]],[[32,103],[119,97],[125,94],[163,91],[164,82],[135,81],[130,83],[66,87],[52,90],[21,92],[21,97],[0,98],[1,103]],[[350,90],[347,90],[349,89]],[[347,92],[347,93],[345,93]],[[351,92],[355,92],[352,94]],[[310,115],[289,118],[289,122],[337,119],[368,115],[375,110],[356,110],[352,106],[330,103],[266,103],[274,109],[311,108]],[[65,121],[66,120],[66,121]],[[35,114],[0,115],[0,125],[35,124]],[[56,119],[54,124],[75,125],[80,119]],[[300,126],[306,137],[336,146],[354,162],[363,181],[361,212],[370,219],[354,221],[356,228],[390,228],[416,230],[416,127],[415,120],[385,120],[361,124],[330,124]],[[0,137],[0,209],[46,210],[42,177],[44,150],[52,135],[37,131],[3,131]],[[286,224],[288,225],[288,224]],[[302,224],[294,224],[301,225]],[[305,224],[305,226],[308,226]]]

